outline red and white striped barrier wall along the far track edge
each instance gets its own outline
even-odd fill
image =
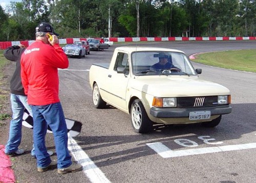
[[[99,39],[99,38],[96,38]],[[87,40],[87,38],[59,39],[59,44],[73,44],[74,41]],[[229,41],[229,40],[256,40],[256,37],[125,37],[110,38],[113,42],[138,42],[138,41]],[[34,41],[5,41],[0,42],[0,49],[6,49],[13,45],[23,44],[26,47]]]

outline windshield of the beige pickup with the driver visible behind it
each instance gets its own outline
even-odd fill
[[[196,75],[183,53],[170,51],[136,51],[132,53],[135,75]]]

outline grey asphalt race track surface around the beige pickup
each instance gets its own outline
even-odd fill
[[[256,73],[193,63],[203,69],[200,77],[230,89],[232,113],[223,115],[215,128],[157,125],[150,134],[136,134],[128,114],[112,106],[93,107],[89,85],[91,64],[110,62],[115,47],[131,45],[181,49],[188,56],[256,49],[255,41],[148,42],[114,44],[85,58],[70,58],[69,68],[59,70],[59,96],[66,117],[83,123],[82,133],[70,140],[69,148],[84,170],[65,175],[56,169],[36,172],[29,151],[32,130],[23,127],[20,147],[27,151],[13,161],[18,182],[256,182]],[[55,150],[52,134],[47,135],[47,147]]]

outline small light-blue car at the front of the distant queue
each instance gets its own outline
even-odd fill
[[[67,44],[66,46],[62,47],[62,49],[68,57],[76,57],[80,59],[81,57],[86,56],[86,48],[82,47],[81,45]]]

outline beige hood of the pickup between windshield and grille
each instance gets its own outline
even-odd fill
[[[197,76],[137,77],[131,88],[161,97],[186,97],[228,95],[230,91],[217,83],[199,79]]]

